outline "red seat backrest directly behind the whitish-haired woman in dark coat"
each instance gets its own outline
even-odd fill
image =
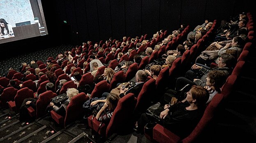
[[[67,106],[66,117],[64,126],[66,127],[69,123],[81,119],[84,116],[83,103],[87,101],[89,97],[85,93],[81,92],[74,96],[69,105]]]

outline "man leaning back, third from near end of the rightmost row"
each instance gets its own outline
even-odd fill
[[[233,70],[233,65],[235,63],[234,56],[230,54],[222,54],[219,58],[218,67],[213,69],[222,70],[226,73],[226,76],[230,75]],[[175,90],[180,90],[185,85],[199,85],[206,86],[206,78],[210,71],[213,69],[207,69],[203,66],[193,65],[191,70],[187,71],[185,77],[179,77],[176,82]],[[185,91],[186,92],[186,91]]]

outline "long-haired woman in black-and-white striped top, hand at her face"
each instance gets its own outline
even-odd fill
[[[106,98],[106,102],[104,103],[103,107],[99,110],[96,115],[96,119],[99,121],[110,121],[115,107],[118,105],[120,97],[117,94],[110,93]],[[106,111],[104,113],[104,111]]]

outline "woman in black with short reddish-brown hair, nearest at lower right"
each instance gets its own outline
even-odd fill
[[[201,117],[203,116],[205,103],[209,99],[209,92],[203,87],[193,86],[187,92],[186,100],[170,106],[164,105],[161,113],[157,116],[161,118],[159,123],[174,134],[181,138],[189,135],[196,127]],[[152,121],[145,113],[138,120],[138,131],[142,132],[144,126]]]

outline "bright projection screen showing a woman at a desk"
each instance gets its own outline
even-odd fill
[[[41,0],[0,0],[0,44],[48,34]]]

